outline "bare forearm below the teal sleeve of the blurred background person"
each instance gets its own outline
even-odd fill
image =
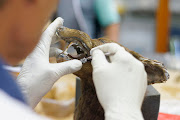
[[[109,39],[118,42],[119,39],[119,26],[120,24],[111,24],[105,28],[105,36]]]

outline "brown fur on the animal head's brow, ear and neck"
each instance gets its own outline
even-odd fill
[[[105,43],[114,42],[108,38],[91,39],[86,33],[82,31],[65,27],[61,28],[58,31],[58,35],[59,37],[61,37],[61,39],[67,42],[73,42],[75,40],[78,41],[79,46],[83,47],[86,50],[88,56],[92,48]],[[122,46],[121,44],[119,45]],[[145,58],[126,47],[124,48],[144,64],[145,70],[148,75],[148,84],[162,83],[169,78],[169,74],[161,62]],[[92,80],[92,71],[93,70],[91,63],[90,61],[88,61],[83,64],[83,67],[80,71],[74,73],[81,78],[82,91],[81,97],[75,110],[75,120],[104,120],[104,110],[102,109],[102,106],[97,99],[95,87]]]

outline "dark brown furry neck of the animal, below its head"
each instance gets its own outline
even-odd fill
[[[84,71],[85,72],[85,71]],[[92,72],[79,76],[81,78],[81,97],[75,110],[75,120],[104,120],[101,107],[92,80]]]

